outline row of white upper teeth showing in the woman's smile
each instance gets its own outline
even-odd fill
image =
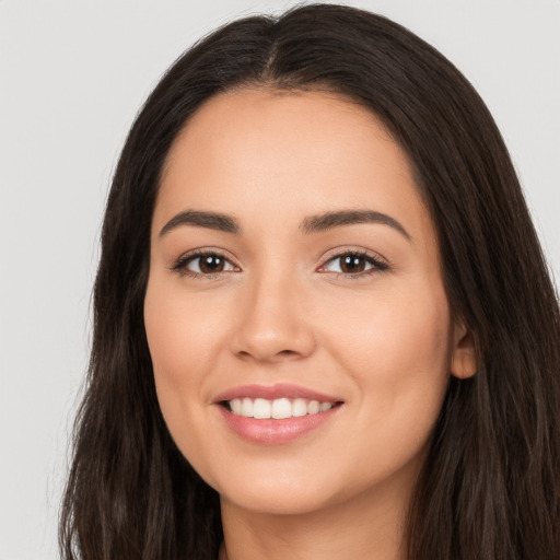
[[[318,400],[307,400],[304,398],[267,400],[265,398],[252,399],[244,397],[234,398],[229,404],[234,415],[245,418],[257,418],[259,420],[269,418],[282,420],[284,418],[317,415],[319,412],[327,412],[334,406],[332,402],[319,402]]]

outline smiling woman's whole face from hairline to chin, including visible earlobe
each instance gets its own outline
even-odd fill
[[[467,374],[407,158],[325,93],[237,91],[189,120],[144,318],[176,444],[253,511],[405,499],[450,372]]]

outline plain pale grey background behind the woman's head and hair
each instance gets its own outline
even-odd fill
[[[58,558],[100,223],[136,112],[195,39],[293,3],[0,0],[0,560]],[[560,0],[345,3],[408,26],[474,83],[558,279]]]

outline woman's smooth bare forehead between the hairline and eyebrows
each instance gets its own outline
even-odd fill
[[[368,208],[399,215],[417,234],[431,230],[387,129],[362,105],[325,92],[247,89],[210,98],[170,151],[154,225],[187,207],[241,221],[268,215],[269,226]]]

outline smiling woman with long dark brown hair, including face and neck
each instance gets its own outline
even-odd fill
[[[483,103],[307,5],[170,69],[107,202],[65,558],[552,559],[560,318]]]

